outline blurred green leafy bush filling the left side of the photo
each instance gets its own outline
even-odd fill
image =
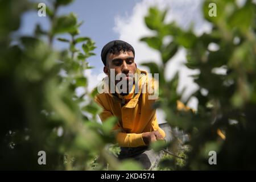
[[[104,125],[96,121],[101,108],[94,103],[96,92],[88,91],[84,76],[92,68],[86,59],[94,55],[95,43],[79,36],[81,23],[75,14],[56,14],[60,6],[71,2],[52,1],[46,10],[51,22],[49,30],[36,25],[34,36],[17,39],[13,32],[20,26],[20,16],[28,10],[38,10],[38,4],[0,1],[2,169],[133,167],[127,162],[119,163],[106,147],[114,142],[111,130],[116,119],[110,118]],[[59,37],[64,33],[71,39]],[[56,51],[52,47],[56,36],[69,48]],[[77,43],[82,43],[82,51]],[[85,92],[77,96],[75,90],[81,86]],[[46,152],[46,165],[38,164],[39,151]]]

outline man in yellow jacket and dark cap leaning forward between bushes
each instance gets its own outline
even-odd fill
[[[121,147],[118,158],[133,158],[145,169],[151,169],[157,166],[162,153],[156,154],[148,145],[163,140],[165,133],[158,126],[156,110],[152,107],[157,98],[148,92],[149,87],[154,90],[157,85],[148,78],[147,72],[137,68],[134,56],[134,48],[122,40],[113,40],[102,48],[108,88],[107,92],[98,94],[95,101],[103,108],[102,122],[113,115],[118,118],[114,127],[119,131],[116,135]]]

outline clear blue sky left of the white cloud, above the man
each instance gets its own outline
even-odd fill
[[[141,0],[76,0],[68,6],[60,7],[57,14],[75,13],[79,22],[84,21],[84,24],[80,27],[80,36],[89,36],[96,42],[97,48],[94,51],[96,56],[89,57],[88,59],[89,64],[95,67],[93,72],[102,72],[101,48],[109,41],[119,38],[117,32],[113,30],[115,17],[131,15],[133,7],[140,1]],[[46,3],[46,6],[51,5],[49,1],[40,0],[35,2]],[[40,23],[45,30],[49,28],[47,17],[39,17],[35,11],[30,11],[22,16],[22,26],[19,33],[22,35],[33,34],[36,23]],[[59,35],[57,37],[69,38],[67,35]],[[57,49],[62,49],[66,48],[67,44],[56,41],[54,46]]]

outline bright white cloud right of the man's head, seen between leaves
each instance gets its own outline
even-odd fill
[[[115,32],[119,34],[119,39],[125,40],[133,45],[135,49],[135,61],[138,64],[155,61],[155,63],[160,63],[160,54],[154,49],[149,48],[146,43],[140,42],[144,36],[154,35],[154,32],[148,30],[146,24],[144,23],[144,16],[147,15],[148,9],[151,6],[157,6],[159,9],[163,10],[168,8],[166,21],[175,20],[175,22],[184,29],[188,29],[193,22],[193,30],[196,35],[201,35],[204,32],[211,31],[211,25],[206,22],[201,13],[201,0],[143,0],[135,5],[133,13],[130,16],[117,16],[115,17],[115,27],[113,28]],[[169,80],[171,79],[176,71],[179,71],[180,82],[177,90],[180,92],[185,89],[183,99],[186,100],[198,86],[193,83],[190,75],[194,75],[198,71],[192,71],[184,66],[186,61],[185,50],[180,49],[172,60],[168,62],[164,74]],[[139,68],[148,71],[147,68],[139,66]],[[189,101],[189,106],[193,109],[197,109],[197,99],[192,98]],[[162,123],[164,118],[163,112],[158,111],[158,121]]]

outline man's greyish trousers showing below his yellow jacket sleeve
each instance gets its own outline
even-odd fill
[[[133,159],[136,162],[141,163],[143,169],[154,170],[156,167],[158,167],[159,161],[163,154],[164,151],[155,152],[148,146],[121,147],[121,152],[118,155],[118,159]]]

